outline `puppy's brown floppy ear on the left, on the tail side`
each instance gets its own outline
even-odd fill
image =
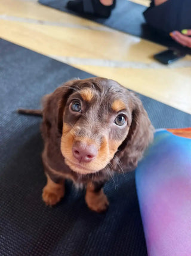
[[[50,130],[54,135],[60,135],[63,127],[63,112],[66,106],[67,98],[73,92],[73,84],[76,80],[64,83],[58,87],[52,94],[45,95],[42,99],[43,105],[43,122],[42,130],[50,137]]]

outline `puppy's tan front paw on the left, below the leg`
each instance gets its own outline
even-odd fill
[[[45,202],[45,204],[47,204],[47,206],[53,206],[57,204],[63,197],[64,197],[63,186],[50,189],[50,187],[46,185],[42,192],[42,199]]]

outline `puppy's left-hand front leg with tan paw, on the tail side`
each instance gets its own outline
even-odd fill
[[[58,183],[55,183],[47,174],[47,185],[45,185],[42,192],[42,199],[45,204],[53,206],[54,204],[57,204],[63,197],[64,180],[60,180]]]

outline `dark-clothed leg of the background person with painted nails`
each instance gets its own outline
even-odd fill
[[[143,14],[150,26],[165,34],[191,29],[191,0],[168,0],[158,6],[152,0]]]

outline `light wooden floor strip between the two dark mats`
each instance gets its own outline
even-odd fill
[[[191,56],[165,67],[152,58],[165,47],[36,0],[0,0],[0,37],[191,114]]]

